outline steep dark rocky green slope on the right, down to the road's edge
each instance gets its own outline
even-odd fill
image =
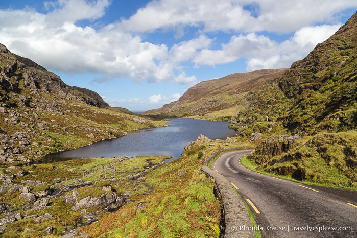
[[[259,110],[247,107],[238,117],[268,135],[266,128],[282,125],[294,139],[271,137],[251,156],[261,170],[298,180],[355,187],[357,181],[357,14],[303,60],[292,64],[274,85],[283,100],[259,108],[279,108],[275,121],[263,122]],[[267,91],[259,96],[270,95]],[[276,93],[274,93],[276,94]],[[261,112],[261,111],[260,111]],[[250,120],[249,120],[250,118]],[[253,120],[251,120],[253,118]],[[243,128],[242,128],[243,129]],[[244,130],[244,129],[243,129]],[[284,133],[283,131],[279,132]]]

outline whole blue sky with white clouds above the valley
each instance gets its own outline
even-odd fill
[[[1,0],[0,43],[134,112],[233,73],[289,68],[355,0]]]

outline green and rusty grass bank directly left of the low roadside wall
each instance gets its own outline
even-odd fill
[[[149,195],[134,196],[134,203],[80,231],[102,237],[219,237],[221,203],[213,194],[213,182],[200,171],[197,154],[202,145],[196,144],[182,158],[145,176],[154,187]]]

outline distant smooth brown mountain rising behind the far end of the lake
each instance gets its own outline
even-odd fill
[[[248,94],[263,89],[285,70],[263,69],[202,81],[189,88],[179,100],[142,114],[184,116],[236,107],[244,104]]]

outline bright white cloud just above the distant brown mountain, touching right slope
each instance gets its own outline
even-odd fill
[[[304,27],[293,37],[278,43],[256,33],[232,36],[219,50],[202,50],[193,59],[195,67],[215,66],[245,58],[247,71],[263,68],[288,68],[297,59],[311,52],[316,44],[334,34],[340,25]]]

